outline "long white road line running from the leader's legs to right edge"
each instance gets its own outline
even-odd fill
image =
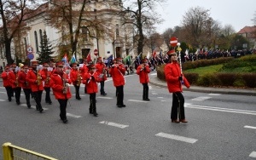
[[[196,106],[196,105],[191,105],[189,103],[185,103],[184,106],[186,108],[195,108],[195,109],[200,109],[200,110],[224,111],[224,112],[256,115],[256,111],[237,110],[237,109],[220,108],[220,107],[213,107],[213,106]]]

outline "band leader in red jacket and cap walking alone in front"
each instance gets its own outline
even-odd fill
[[[182,94],[182,83],[184,83],[184,85],[189,88],[189,82],[187,81],[186,77],[184,77],[181,73],[181,69],[179,67],[179,64],[177,63],[177,54],[175,53],[175,51],[172,49],[167,52],[167,54],[171,62],[165,66],[165,76],[169,93],[172,93],[172,123],[188,123],[188,121],[185,119],[185,100]]]

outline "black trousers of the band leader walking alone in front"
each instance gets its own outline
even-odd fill
[[[177,117],[179,120],[185,119],[184,102],[185,100],[181,92],[172,93],[171,119],[175,120]]]

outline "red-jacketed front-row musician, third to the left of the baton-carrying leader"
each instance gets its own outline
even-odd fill
[[[96,67],[92,64],[89,66],[89,72],[84,74],[83,83],[86,84],[86,92],[90,94],[90,114],[95,117],[98,116],[96,111],[96,93],[98,92],[97,83],[99,82],[99,75],[96,72]]]

